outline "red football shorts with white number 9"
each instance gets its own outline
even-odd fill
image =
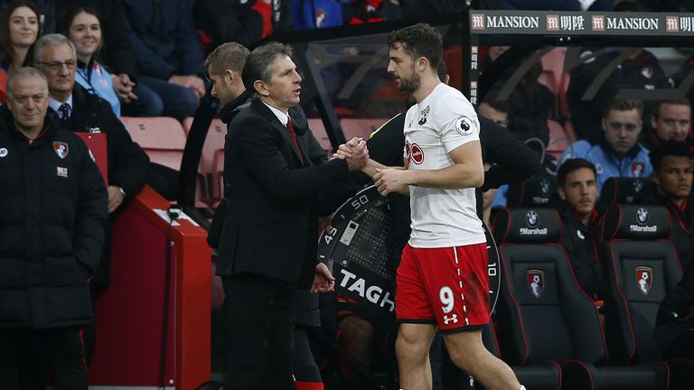
[[[490,322],[487,245],[405,246],[398,267],[399,322],[436,323],[441,331],[479,329]]]

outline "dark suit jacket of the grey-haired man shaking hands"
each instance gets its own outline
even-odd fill
[[[314,135],[295,126],[299,160],[286,127],[260,100],[230,123],[224,146],[224,201],[217,274],[259,274],[307,288],[313,281],[318,199],[347,177],[347,163],[325,162]]]

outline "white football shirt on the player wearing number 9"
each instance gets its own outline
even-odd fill
[[[444,83],[405,116],[405,158],[411,170],[440,170],[454,164],[448,155],[480,139],[474,107]],[[409,186],[414,247],[467,246],[486,242],[477,218],[474,188],[440,190]]]

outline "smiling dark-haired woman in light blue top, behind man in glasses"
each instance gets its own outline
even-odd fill
[[[62,33],[77,51],[76,81],[89,92],[108,101],[113,113],[120,117],[120,100],[113,88],[112,76],[96,58],[103,43],[101,17],[91,8],[76,6],[66,12],[61,26]]]

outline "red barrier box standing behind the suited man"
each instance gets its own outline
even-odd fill
[[[184,219],[169,227],[155,211],[168,207],[168,201],[145,187],[116,219],[111,285],[96,303],[91,385],[159,385],[167,234],[174,245],[164,385],[190,390],[210,379],[211,252],[207,232]]]

